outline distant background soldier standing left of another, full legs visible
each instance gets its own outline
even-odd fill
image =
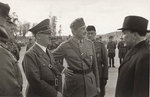
[[[109,42],[107,44],[108,49],[108,58],[109,58],[109,67],[115,67],[114,65],[114,57],[115,57],[115,49],[116,49],[116,43],[113,41],[113,36],[109,36]]]

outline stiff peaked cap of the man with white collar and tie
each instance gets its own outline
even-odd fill
[[[45,19],[41,21],[39,24],[34,26],[33,28],[29,29],[33,33],[33,35],[36,35],[37,33],[52,33],[50,28],[50,20]]]

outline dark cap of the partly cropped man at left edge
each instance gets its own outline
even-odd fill
[[[0,2],[0,15],[3,17],[9,17],[10,7],[8,4],[4,4]]]

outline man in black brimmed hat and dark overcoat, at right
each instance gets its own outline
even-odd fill
[[[130,47],[119,67],[115,97],[149,97],[149,45],[145,40],[148,20],[125,17],[122,30]]]

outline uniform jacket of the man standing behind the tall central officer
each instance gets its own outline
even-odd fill
[[[93,41],[96,51],[97,65],[101,79],[108,79],[108,57],[105,45],[99,41]]]

